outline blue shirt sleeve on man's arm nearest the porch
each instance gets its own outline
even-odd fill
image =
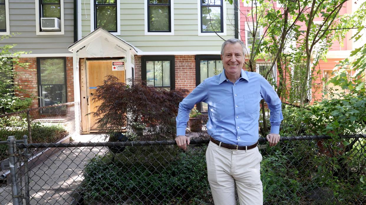
[[[176,117],[177,133],[176,136],[186,135],[187,121],[189,113],[195,104],[199,102],[206,102],[208,99],[208,92],[205,81],[199,84],[194,90],[186,96],[179,103],[178,115]]]

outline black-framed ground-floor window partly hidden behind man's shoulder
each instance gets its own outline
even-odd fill
[[[218,75],[223,71],[223,62],[220,55],[197,55],[196,60],[196,86],[208,77]],[[206,103],[198,103],[197,109],[201,113],[207,113]]]

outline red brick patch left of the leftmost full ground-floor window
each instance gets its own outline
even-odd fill
[[[19,92],[18,96],[24,96],[29,98],[33,96],[31,107],[38,107],[38,88],[37,88],[37,58],[19,58],[20,63],[29,63],[28,69],[14,65],[14,71],[18,73],[14,78],[14,82],[17,82],[27,92]]]

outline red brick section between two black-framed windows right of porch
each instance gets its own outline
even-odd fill
[[[175,87],[192,91],[196,87],[194,55],[175,56]]]

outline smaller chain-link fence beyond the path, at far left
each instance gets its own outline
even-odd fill
[[[0,115],[0,161],[8,157],[8,136],[21,140],[27,135],[29,143],[56,143],[75,133],[75,105],[63,103]],[[1,172],[1,169],[0,169]]]

